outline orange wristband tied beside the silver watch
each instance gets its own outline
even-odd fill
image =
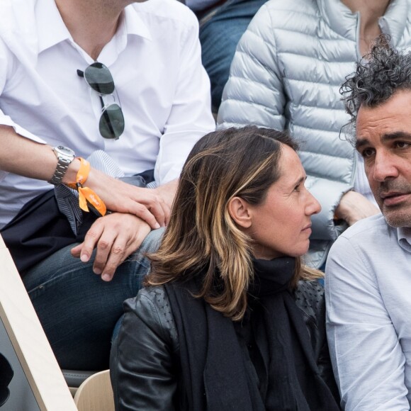
[[[91,208],[99,216],[106,215],[107,208],[101,198],[91,188],[83,186],[90,173],[90,163],[81,157],[77,158],[80,160],[80,168],[77,171],[76,182],[67,184],[67,186],[79,191],[79,206],[81,210],[89,213],[89,208]]]

